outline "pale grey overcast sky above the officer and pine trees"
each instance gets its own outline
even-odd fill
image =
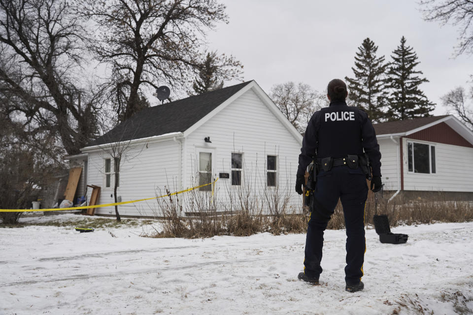
[[[453,58],[458,30],[425,22],[413,0],[220,0],[227,6],[228,25],[208,33],[210,49],[232,54],[244,65],[244,80],[270,94],[274,84],[304,82],[324,91],[333,78],[353,77],[351,67],[363,39],[378,46],[378,56],[391,53],[404,35],[430,82],[421,85],[437,103],[457,86],[466,86],[473,59]],[[229,82],[231,85],[235,82]]]

